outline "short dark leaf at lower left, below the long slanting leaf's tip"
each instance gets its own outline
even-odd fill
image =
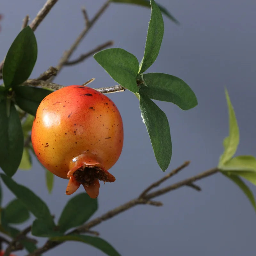
[[[49,225],[49,223],[45,222],[45,220],[36,219],[33,221],[31,232],[33,236],[41,236],[41,237],[63,236],[62,232],[55,231],[54,228],[55,226]]]

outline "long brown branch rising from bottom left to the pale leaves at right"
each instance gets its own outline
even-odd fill
[[[177,170],[177,169],[175,169],[175,170]],[[158,189],[155,192],[152,192],[150,194],[146,194],[143,197],[139,196],[138,198],[132,199],[132,200],[128,201],[127,203],[122,204],[122,205],[106,212],[105,214],[101,215],[100,217],[95,218],[95,219],[85,223],[84,225],[74,229],[73,231],[69,232],[68,234],[77,234],[77,233],[88,232],[88,230],[90,230],[90,228],[100,224],[102,221],[108,220],[108,219],[116,216],[117,214],[119,214],[121,212],[124,212],[124,211],[132,208],[133,206],[138,205],[138,204],[151,204],[151,205],[160,206],[161,202],[151,201],[151,199],[156,197],[156,196],[163,195],[163,194],[165,194],[165,193],[167,193],[171,190],[174,190],[174,189],[177,189],[177,188],[180,188],[180,187],[183,187],[183,186],[190,185],[190,184],[192,184],[192,182],[194,182],[196,180],[203,179],[203,178],[208,177],[208,176],[210,176],[212,174],[215,174],[217,172],[219,172],[219,169],[217,167],[212,168],[208,171],[197,174],[197,175],[195,175],[191,178],[188,178],[188,179],[182,180],[180,182],[177,182],[177,183],[175,183],[171,186],[168,186],[168,187],[165,187],[165,188],[162,188],[162,189]],[[157,182],[159,182],[159,181],[157,181]],[[150,185],[149,187],[152,187],[152,185]],[[43,252],[46,252],[46,251],[48,251],[48,250],[50,250],[50,249],[54,248],[55,246],[57,246],[59,244],[62,244],[62,243],[63,242],[56,242],[56,241],[48,240],[41,248],[38,248],[37,250],[28,254],[27,256],[37,256],[37,255],[39,255]]]

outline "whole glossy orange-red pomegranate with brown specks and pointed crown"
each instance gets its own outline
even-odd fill
[[[123,137],[122,118],[113,101],[80,85],[46,96],[37,109],[31,134],[44,167],[69,179],[66,194],[82,184],[92,198],[99,195],[99,180],[116,180],[107,170],[121,154]]]

